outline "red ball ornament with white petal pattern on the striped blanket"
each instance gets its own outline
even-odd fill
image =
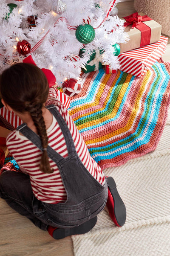
[[[79,84],[77,79],[71,78],[62,84],[63,93],[67,94],[70,97],[73,97],[80,93],[81,84]]]

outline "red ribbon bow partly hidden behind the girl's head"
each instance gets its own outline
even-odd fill
[[[24,63],[29,63],[29,64],[33,64],[35,66],[37,66],[32,58],[31,55],[29,55],[28,57],[26,57],[24,60],[23,60]],[[47,80],[48,80],[48,85],[49,87],[52,87],[55,83],[56,83],[56,78],[54,76],[54,74],[51,72],[51,70],[48,70],[46,68],[42,68],[41,69],[42,72],[45,74]]]

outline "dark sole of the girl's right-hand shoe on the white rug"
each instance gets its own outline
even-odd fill
[[[116,189],[116,183],[113,180],[113,177],[108,177],[107,181],[108,188],[111,192],[114,201],[114,222],[116,222],[115,224],[118,225],[119,227],[122,227],[126,221],[126,207]]]

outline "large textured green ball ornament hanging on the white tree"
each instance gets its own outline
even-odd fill
[[[95,38],[95,30],[90,24],[79,25],[76,29],[76,38],[82,44],[89,44]]]

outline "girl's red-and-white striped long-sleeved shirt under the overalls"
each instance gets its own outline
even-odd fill
[[[99,183],[104,185],[104,173],[90,156],[88,148],[79,134],[79,131],[77,130],[77,127],[71,119],[67,109],[61,104],[61,102],[54,98],[48,99],[48,102],[46,103],[46,105],[51,104],[56,105],[59,113],[67,123],[74,140],[77,154],[83,165]],[[48,145],[57,151],[62,157],[67,157],[68,151],[65,139],[54,116],[51,126],[47,129],[47,134]],[[40,158],[42,154],[40,149],[26,137],[21,135],[19,131],[12,131],[8,135],[6,145],[21,170],[30,176],[32,190],[37,199],[49,204],[57,204],[59,202],[66,201],[67,195],[56,163],[49,158],[50,167],[51,169],[54,169],[54,172],[51,174],[42,173],[40,171]]]

